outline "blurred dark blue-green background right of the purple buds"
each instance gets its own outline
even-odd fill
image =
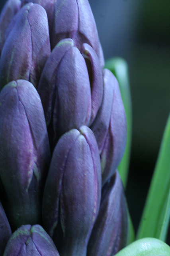
[[[126,195],[137,230],[170,112],[170,0],[89,2],[105,59],[120,56],[129,65],[133,137]]]

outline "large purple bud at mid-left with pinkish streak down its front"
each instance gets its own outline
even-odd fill
[[[0,180],[12,228],[41,222],[50,148],[40,97],[26,80],[0,93]]]

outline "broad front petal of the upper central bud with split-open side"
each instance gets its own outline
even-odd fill
[[[63,57],[58,69],[57,94],[59,116],[53,117],[59,133],[88,124],[91,115],[91,91],[86,62],[76,47]]]

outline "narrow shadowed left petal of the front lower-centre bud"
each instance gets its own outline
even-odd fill
[[[70,147],[79,136],[79,131],[72,129],[60,138],[55,146],[43,195],[43,225],[52,237],[58,224],[59,200],[64,166]]]

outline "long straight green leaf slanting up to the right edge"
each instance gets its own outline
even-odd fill
[[[139,225],[137,238],[166,240],[170,219],[170,115]]]

